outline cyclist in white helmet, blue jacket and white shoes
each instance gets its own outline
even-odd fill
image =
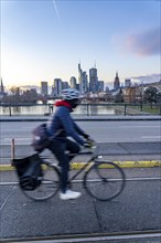
[[[62,200],[76,199],[80,192],[67,188],[69,161],[78,154],[80,146],[88,147],[89,135],[82,130],[74,122],[71,113],[80,104],[80,93],[75,88],[62,91],[62,101],[55,104],[56,110],[47,123],[47,134],[51,138],[49,149],[54,154],[61,167],[61,192]],[[72,138],[72,139],[71,139]],[[67,154],[67,152],[68,154]]]

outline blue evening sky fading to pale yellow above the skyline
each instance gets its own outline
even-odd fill
[[[89,75],[159,81],[161,1],[0,0],[4,86],[53,84]]]

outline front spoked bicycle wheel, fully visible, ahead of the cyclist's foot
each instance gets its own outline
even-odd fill
[[[84,186],[93,198],[109,201],[122,192],[125,179],[125,172],[118,165],[100,161],[85,173]]]

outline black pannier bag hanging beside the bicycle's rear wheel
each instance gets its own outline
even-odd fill
[[[29,191],[34,190],[42,182],[42,159],[37,154],[22,159],[13,159],[12,165],[15,167],[21,189]]]

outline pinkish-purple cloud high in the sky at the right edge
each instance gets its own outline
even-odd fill
[[[137,55],[159,55],[161,54],[160,28],[146,32],[129,34],[124,39],[124,49]]]

